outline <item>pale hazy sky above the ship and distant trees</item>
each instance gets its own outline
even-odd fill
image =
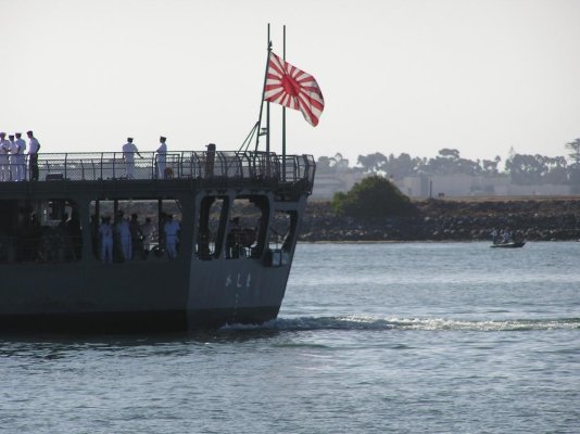
[[[268,22],[326,100],[316,128],[288,111],[292,153],[554,156],[580,137],[579,0],[0,0],[0,130],[42,152],[237,150]]]

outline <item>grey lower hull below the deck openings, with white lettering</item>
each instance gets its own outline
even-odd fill
[[[277,317],[290,263],[260,258],[21,267],[0,288],[1,331],[151,332]],[[154,266],[152,266],[154,265]]]

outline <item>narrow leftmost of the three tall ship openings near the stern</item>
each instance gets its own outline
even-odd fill
[[[209,260],[219,257],[226,230],[227,197],[205,196],[201,200],[197,255]]]

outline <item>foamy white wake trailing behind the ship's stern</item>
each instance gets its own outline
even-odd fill
[[[445,318],[375,318],[349,317],[300,317],[278,318],[263,326],[231,324],[227,330],[424,330],[424,331],[530,331],[530,330],[580,330],[580,318],[513,319],[513,320],[457,320]]]

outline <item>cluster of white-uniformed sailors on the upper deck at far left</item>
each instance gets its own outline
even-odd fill
[[[38,180],[38,151],[40,143],[33,131],[28,136],[28,168],[30,180]],[[22,132],[9,135],[0,132],[0,182],[24,181],[26,179],[26,141]]]

